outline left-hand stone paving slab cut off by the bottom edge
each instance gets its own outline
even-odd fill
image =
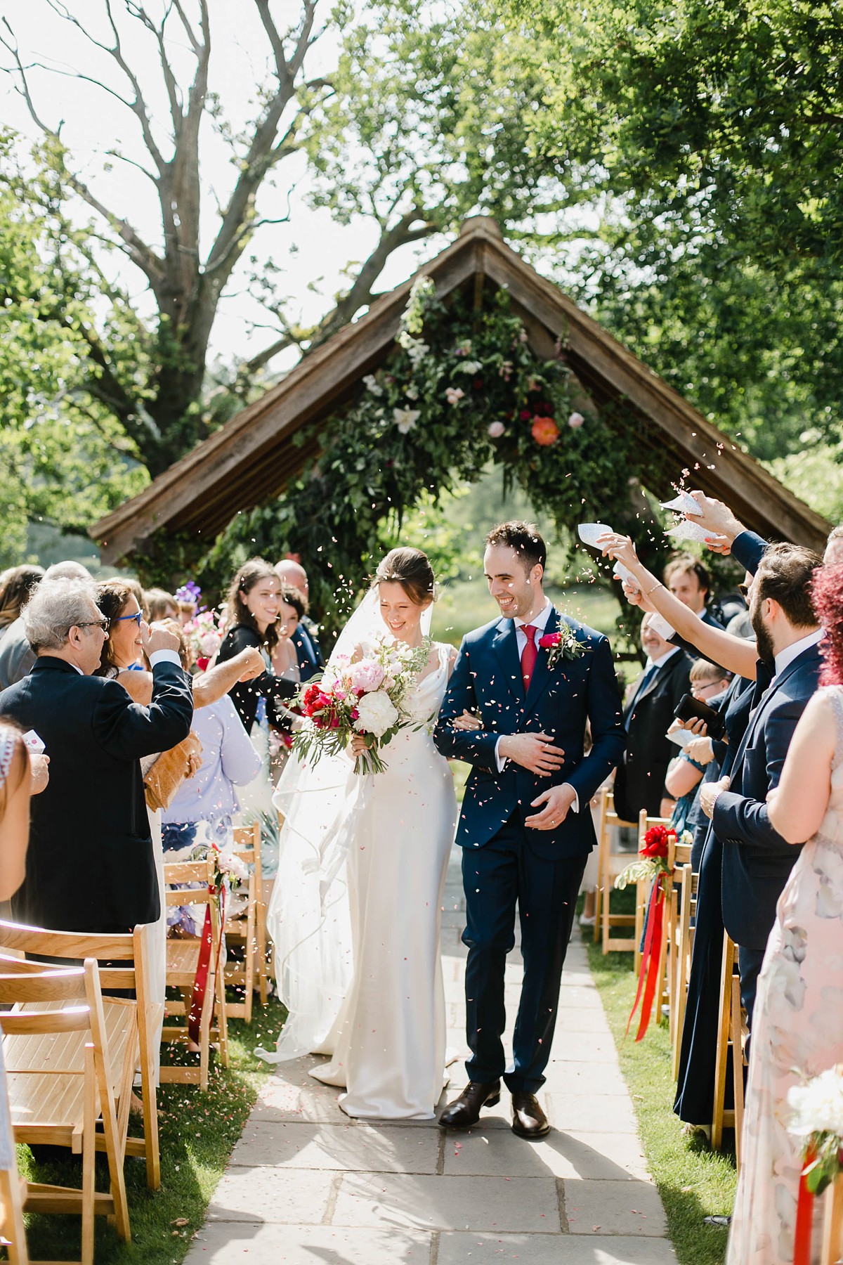
[[[206,1225],[188,1260],[202,1265],[430,1265],[431,1235],[344,1226]]]

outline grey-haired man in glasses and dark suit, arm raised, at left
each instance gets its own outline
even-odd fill
[[[187,737],[193,715],[178,638],[142,625],[152,702],[91,673],[107,620],[90,581],[43,583],[24,608],[37,654],[28,677],[0,693],[0,715],[34,730],[49,783],[33,799],[20,922],[58,931],[125,932],[161,912],[140,756]]]

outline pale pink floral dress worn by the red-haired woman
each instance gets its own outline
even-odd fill
[[[837,726],[832,796],[779,898],[758,978],[727,1265],[792,1265],[803,1140],[786,1128],[787,1090],[843,1063],[843,687],[824,693]]]

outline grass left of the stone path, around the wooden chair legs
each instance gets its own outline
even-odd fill
[[[143,1160],[126,1159],[131,1241],[124,1243],[106,1218],[97,1217],[96,1265],[123,1265],[124,1261],[181,1265],[255,1103],[258,1085],[274,1071],[269,1064],[255,1059],[253,1050],[257,1045],[274,1045],[286,1013],[273,998],[265,1008],[255,1003],[252,1027],[229,1020],[230,1065],[222,1068],[212,1061],[206,1093],[198,1085],[161,1087],[161,1189],[147,1188]],[[190,1055],[181,1055],[173,1061],[188,1060]],[[134,1114],[129,1120],[130,1135],[136,1131],[136,1121]],[[29,1180],[82,1184],[81,1157],[37,1164],[27,1146],[18,1147],[18,1157],[20,1171]],[[96,1188],[106,1190],[104,1155],[97,1155],[96,1168]],[[42,1214],[27,1217],[27,1223],[29,1254],[35,1260],[78,1260],[80,1217]]]

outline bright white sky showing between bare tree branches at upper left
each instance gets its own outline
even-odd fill
[[[11,25],[20,46],[21,61],[25,65],[39,62],[49,67],[33,67],[29,72],[35,109],[47,125],[56,128],[62,123],[62,138],[76,156],[77,173],[96,195],[114,213],[128,219],[150,245],[158,247],[161,219],[157,214],[155,190],[135,167],[110,158],[107,153],[116,147],[126,158],[149,166],[139,123],[112,95],[76,76],[97,78],[128,97],[131,96],[129,85],[107,53],[95,48],[82,30],[57,15],[58,6],[59,0],[52,0],[52,4],[49,0],[0,0],[0,15]],[[159,19],[163,0],[147,0],[145,8],[153,20]],[[169,157],[168,105],[154,38],[143,30],[140,23],[126,18],[124,0],[112,0],[112,9],[126,61],[135,71],[148,101],[155,138],[164,156]],[[196,18],[196,0],[185,0],[185,9],[191,18]],[[322,0],[322,9],[327,14],[327,0]],[[67,10],[78,19],[85,32],[102,43],[112,43],[105,16],[105,0],[67,0]],[[268,40],[252,0],[210,0],[210,89],[220,95],[225,115],[238,132],[254,116],[255,86],[268,80]],[[294,0],[276,0],[273,11],[281,24],[284,16],[297,15],[298,6]],[[167,29],[171,61],[179,82],[187,85],[193,70],[190,43],[172,16]],[[8,35],[5,29],[4,35]],[[308,75],[330,71],[335,54],[336,39],[327,34],[311,52]],[[0,65],[11,65],[10,54],[3,48]],[[62,73],[54,73],[56,71]],[[39,137],[38,128],[8,75],[0,75],[0,120],[33,140]],[[214,135],[210,119],[205,119],[203,128],[202,249],[206,254],[215,230],[215,204],[219,201],[225,205],[236,172],[225,144]],[[104,171],[109,163],[111,171]],[[283,269],[278,280],[282,292],[291,297],[288,315],[308,323],[327,311],[332,306],[332,295],[344,288],[343,269],[349,263],[365,259],[370,253],[375,243],[375,226],[367,220],[339,226],[329,211],[311,210],[306,205],[306,166],[298,154],[278,166],[274,182],[274,188],[264,186],[262,190],[258,213],[278,216],[286,214],[289,205],[289,223],[262,228],[253,238],[246,256],[272,259]],[[81,207],[80,221],[85,223],[92,214]],[[441,239],[431,239],[421,247],[404,247],[396,252],[380,278],[379,288],[388,290],[398,285],[415,271],[418,261],[432,257],[442,244]],[[109,262],[109,267],[118,264],[119,259]],[[144,278],[130,264],[120,266],[120,277],[134,293],[145,288]],[[249,295],[243,269],[235,272],[214,326],[211,358],[220,355],[229,362],[234,357],[254,355],[277,336],[272,320],[272,315]],[[253,321],[263,321],[269,328],[253,330]],[[277,369],[283,364],[283,358],[278,358],[272,368]]]

